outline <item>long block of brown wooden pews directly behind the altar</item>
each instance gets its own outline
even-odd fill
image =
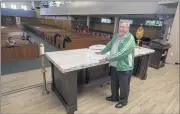
[[[107,44],[110,39],[93,36],[82,32],[71,31],[67,32],[64,29],[45,26],[45,25],[23,25],[24,29],[27,29],[36,35],[40,36],[45,41],[49,42],[59,50],[88,48],[89,46],[96,44]],[[60,36],[60,37],[57,37]],[[69,37],[70,42],[65,42],[65,38]]]

